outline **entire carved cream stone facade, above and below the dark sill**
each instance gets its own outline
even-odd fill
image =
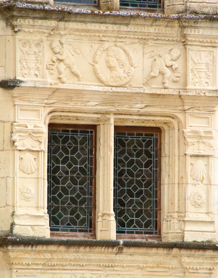
[[[0,276],[217,277],[217,1],[166,0],[165,14],[59,5],[0,1],[0,236],[50,240],[0,238]],[[100,247],[49,239],[49,123],[97,126]],[[114,247],[114,126],[162,131],[162,242],[212,247]]]

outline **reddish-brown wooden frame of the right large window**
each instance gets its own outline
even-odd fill
[[[137,133],[157,133],[158,134],[158,189],[157,189],[157,235],[137,235],[137,234],[117,234],[116,239],[154,239],[161,241],[161,128],[158,127],[148,127],[148,126],[121,126],[114,125],[114,132],[137,132]],[[115,219],[116,220],[116,219]]]

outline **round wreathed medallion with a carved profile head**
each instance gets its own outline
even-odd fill
[[[102,74],[98,65],[101,55],[106,52],[105,62],[110,69],[109,74]],[[126,61],[126,56],[128,62]],[[136,67],[133,54],[122,43],[105,43],[99,47],[93,58],[94,73],[97,78],[108,86],[123,86],[133,77]]]

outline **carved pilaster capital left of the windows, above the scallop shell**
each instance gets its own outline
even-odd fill
[[[18,150],[44,150],[44,124],[12,124],[11,145]]]

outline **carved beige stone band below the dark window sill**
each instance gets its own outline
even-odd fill
[[[90,253],[87,246],[18,245],[1,248],[1,254],[14,277],[217,276],[217,250],[117,246],[92,247]]]

